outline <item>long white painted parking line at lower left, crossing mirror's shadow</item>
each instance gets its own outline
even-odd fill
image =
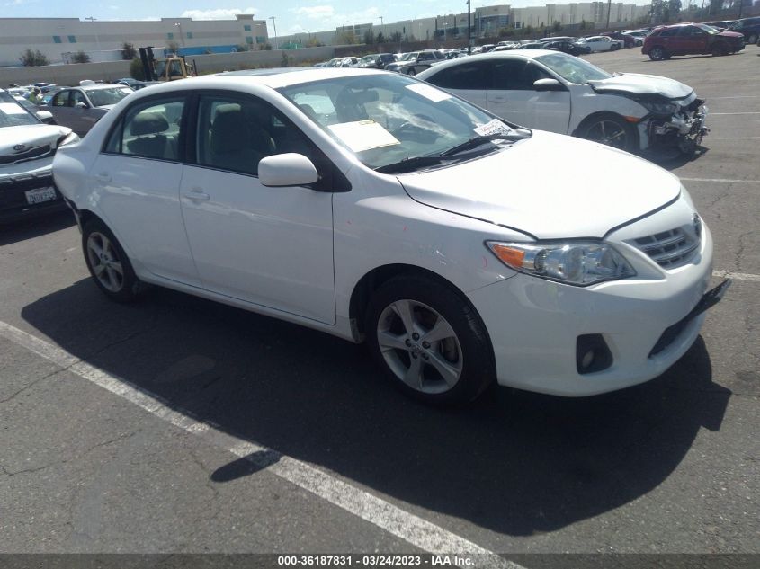
[[[175,411],[165,405],[161,397],[151,394],[126,379],[117,378],[103,369],[95,368],[31,333],[0,321],[0,336],[138,405],[165,422],[170,422],[184,431],[201,437],[216,447],[226,449],[237,457],[247,458],[254,464],[267,467],[268,472],[316,494],[362,520],[371,522],[415,547],[436,554],[477,555],[478,557],[472,559],[473,563],[484,567],[524,569],[522,565],[508,561],[468,539],[461,538],[413,513],[401,510],[378,496],[364,492],[305,462],[282,455],[276,450],[267,449],[255,442],[219,431],[210,423],[198,422],[192,418],[191,413]],[[251,455],[254,456],[251,457]]]

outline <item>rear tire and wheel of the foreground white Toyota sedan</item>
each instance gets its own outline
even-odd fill
[[[116,302],[132,302],[139,295],[140,281],[130,259],[111,229],[98,218],[82,230],[82,250],[90,275],[98,289]]]

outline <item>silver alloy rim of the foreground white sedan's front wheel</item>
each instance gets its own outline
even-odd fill
[[[385,307],[377,339],[389,369],[420,393],[445,393],[460,380],[459,338],[443,316],[421,302],[402,299]]]

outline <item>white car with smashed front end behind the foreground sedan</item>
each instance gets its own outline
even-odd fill
[[[556,51],[453,59],[417,76],[505,120],[629,152],[692,154],[708,132],[707,107],[673,79],[612,75]]]

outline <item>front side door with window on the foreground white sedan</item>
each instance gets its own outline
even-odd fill
[[[258,179],[264,156],[297,152],[323,173],[324,155],[254,96],[201,93],[196,114],[180,193],[203,288],[334,324],[332,193]]]

